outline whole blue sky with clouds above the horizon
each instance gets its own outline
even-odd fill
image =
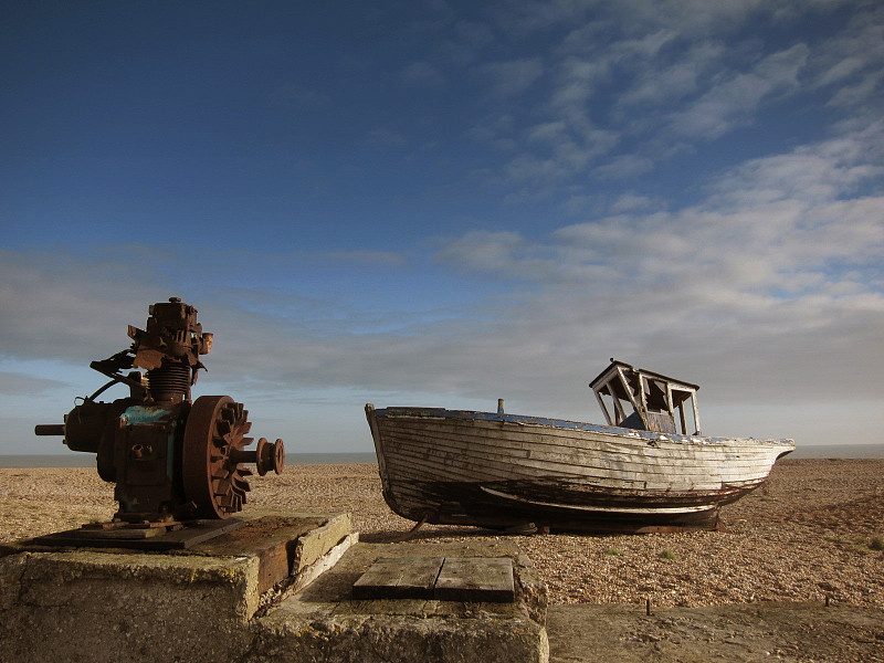
[[[293,452],[369,401],[601,421],[609,357],[880,443],[883,77],[878,2],[8,6],[0,453],[169,296]]]

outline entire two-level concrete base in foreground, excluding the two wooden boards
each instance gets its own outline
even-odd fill
[[[181,551],[4,545],[0,661],[548,660],[546,590],[514,543],[357,540],[348,515],[264,513]],[[506,557],[514,600],[354,600],[381,557]]]

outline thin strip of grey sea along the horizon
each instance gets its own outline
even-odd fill
[[[822,444],[799,446],[790,459],[884,459],[884,444]],[[373,452],[286,453],[286,465],[350,465],[377,463]],[[0,469],[10,467],[94,467],[95,454],[0,455]]]

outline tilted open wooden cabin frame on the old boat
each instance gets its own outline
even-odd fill
[[[629,364],[611,358],[611,365],[589,383],[596,399],[604,412],[609,425],[699,435],[699,409],[697,407],[697,385],[676,380],[667,376],[633,368]],[[603,397],[611,400],[611,410]],[[688,433],[685,406],[691,401],[693,433]],[[627,413],[631,406],[632,412]],[[677,410],[678,424],[675,413]],[[681,429],[681,431],[678,430]]]

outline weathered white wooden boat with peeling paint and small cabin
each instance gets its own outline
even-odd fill
[[[718,508],[794,449],[702,435],[696,385],[622,361],[611,359],[590,388],[607,424],[509,414],[503,401],[497,412],[368,403],[387,504],[419,525],[714,529]]]

